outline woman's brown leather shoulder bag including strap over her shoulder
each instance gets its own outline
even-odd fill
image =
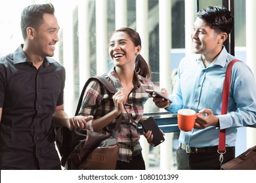
[[[109,93],[114,94],[116,88],[104,76],[89,78],[81,92],[75,116],[77,116],[85,89],[91,80],[98,80]],[[117,120],[114,133],[104,135],[90,130],[70,131],[66,127],[56,129],[56,146],[61,156],[61,163],[65,169],[116,169],[119,155],[117,133],[121,124],[121,117]]]

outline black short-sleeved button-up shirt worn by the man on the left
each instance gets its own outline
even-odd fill
[[[0,58],[1,169],[56,169],[53,113],[63,104],[64,67],[45,58],[37,70],[22,50]]]

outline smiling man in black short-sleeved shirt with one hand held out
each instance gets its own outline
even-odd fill
[[[59,25],[51,4],[30,5],[21,17],[21,44],[0,58],[0,168],[61,169],[54,126],[85,128],[92,116],[64,112],[64,67],[49,58]]]

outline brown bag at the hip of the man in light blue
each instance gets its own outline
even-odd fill
[[[221,166],[223,170],[256,170],[256,146]]]

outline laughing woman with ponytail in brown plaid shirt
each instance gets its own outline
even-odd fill
[[[154,84],[150,80],[150,68],[140,55],[140,50],[140,36],[135,30],[123,27],[113,33],[108,52],[114,68],[104,76],[112,82],[117,92],[110,95],[97,81],[92,81],[85,91],[79,112],[83,116],[93,115],[88,128],[104,134],[112,133],[117,116],[123,114],[117,137],[119,157],[116,169],[145,169],[137,124],[142,119],[144,103],[148,99],[145,90],[152,90]],[[146,133],[146,137],[151,137],[148,142],[152,140],[150,133]]]

